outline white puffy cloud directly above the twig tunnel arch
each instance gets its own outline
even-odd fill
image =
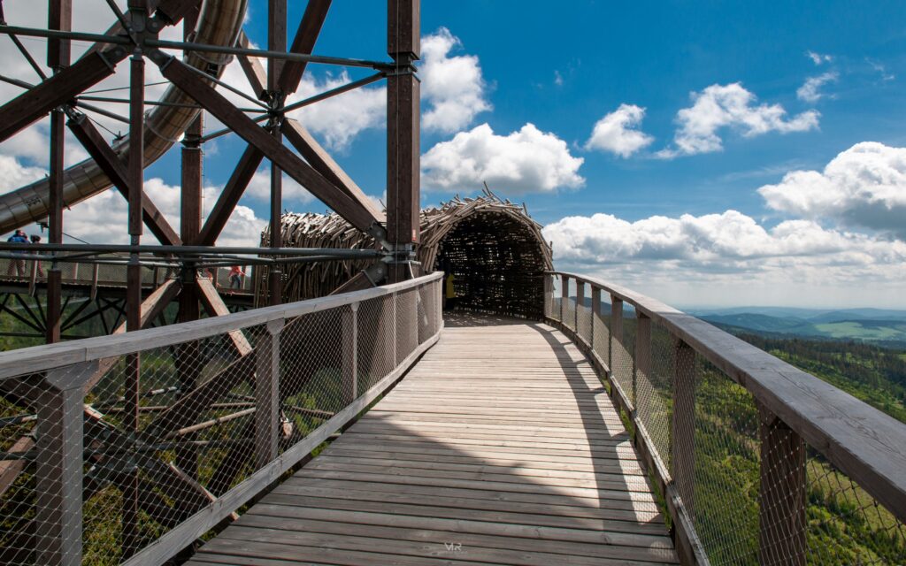
[[[575,158],[563,139],[525,124],[498,136],[487,124],[459,132],[421,158],[422,187],[471,190],[482,181],[508,194],[551,192],[581,187],[583,158]]]

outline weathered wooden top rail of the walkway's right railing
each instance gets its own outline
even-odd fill
[[[906,424],[707,321],[621,285],[565,275],[630,303],[747,389],[833,465],[906,521]]]

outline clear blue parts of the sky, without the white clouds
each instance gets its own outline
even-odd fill
[[[251,3],[246,26],[261,44],[266,42],[264,4]],[[589,206],[627,220],[728,207],[760,215],[765,211],[754,189],[776,182],[789,169],[822,168],[863,140],[906,145],[901,81],[884,81],[871,64],[883,64],[888,74],[906,72],[902,5],[872,2],[854,10],[848,3],[797,3],[778,14],[773,3],[740,4],[571,2],[569,9],[551,10],[541,2],[520,3],[518,9],[500,1],[424,2],[422,30],[427,35],[446,27],[461,42],[455,53],[478,57],[493,110],[477,114],[472,125],[487,122],[506,134],[531,122],[584,158],[584,187],[524,195],[543,223],[587,212]],[[293,5],[290,20],[297,21],[302,11],[302,3]],[[386,58],[384,22],[380,2],[337,2],[315,51]],[[354,44],[348,41],[351,33]],[[809,51],[830,53],[834,62],[816,66],[806,56]],[[816,103],[796,99],[806,78],[831,68],[842,80],[829,85],[827,97]],[[310,69],[315,75],[336,72],[323,65]],[[562,84],[555,83],[555,73]],[[576,148],[596,120],[625,102],[646,109],[643,129],[655,138],[652,149],[660,149],[672,139],[676,112],[689,106],[690,92],[733,82],[791,114],[820,111],[820,130],[754,139],[728,132],[723,151],[670,160],[623,159]],[[425,132],[422,149],[450,137]],[[374,195],[381,195],[384,185],[384,143],[384,130],[371,129],[349,148],[334,151]],[[240,150],[238,141],[220,142],[211,162],[229,165]],[[152,172],[178,182],[169,160],[161,166]],[[228,168],[208,171],[211,182],[226,181]],[[423,204],[451,194],[428,191]],[[265,210],[260,206],[262,214]]]

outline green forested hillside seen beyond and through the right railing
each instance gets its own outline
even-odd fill
[[[852,341],[739,336],[906,422],[906,351]],[[705,364],[696,417],[697,531],[713,563],[754,565],[760,473],[756,405],[745,389]],[[906,528],[811,447],[806,475],[808,564],[906,563]]]

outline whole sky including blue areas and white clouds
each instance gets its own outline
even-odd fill
[[[290,4],[292,30],[304,3]],[[260,45],[264,16],[252,0]],[[382,2],[337,0],[315,53],[386,59],[385,23]],[[426,0],[422,34],[423,206],[487,180],[548,226],[558,267],[681,305],[906,307],[901,2]],[[309,70],[309,92],[365,74]],[[235,65],[225,77],[243,86]],[[380,89],[298,116],[374,197]],[[18,167],[45,166],[4,145]],[[243,148],[207,148],[211,198]],[[178,186],[178,152],[147,177]],[[253,193],[240,240],[267,215]],[[301,189],[284,207],[324,210]]]

